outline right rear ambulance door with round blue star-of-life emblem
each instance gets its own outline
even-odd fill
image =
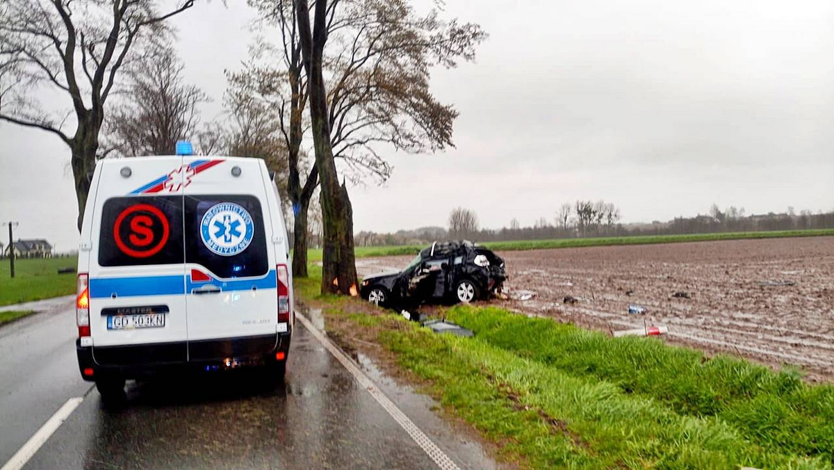
[[[229,345],[235,338],[264,336],[264,348],[275,344],[278,298],[274,252],[268,249],[274,234],[258,163],[183,160],[193,169],[183,200],[192,361],[234,352]]]

